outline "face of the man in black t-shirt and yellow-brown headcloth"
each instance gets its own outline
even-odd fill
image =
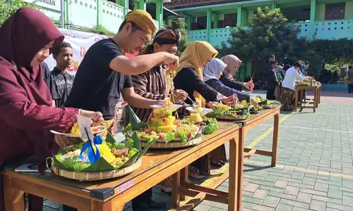
[[[143,49],[145,44],[147,44],[152,39],[152,34],[148,34],[143,30],[133,31],[131,23],[126,23],[124,26],[124,31],[126,32],[126,51],[128,53],[136,53]]]

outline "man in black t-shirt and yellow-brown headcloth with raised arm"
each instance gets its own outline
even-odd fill
[[[179,58],[172,53],[157,52],[127,58],[124,53],[136,53],[148,43],[156,27],[152,16],[143,10],[131,11],[112,38],[102,39],[90,46],[83,58],[71,93],[65,106],[99,110],[104,117],[104,125],[110,132],[116,132],[116,103],[120,94],[131,106],[150,108],[164,104],[164,100],[144,98],[135,93],[131,75],[147,72],[160,63],[171,68],[179,66]],[[143,194],[150,194],[152,188]],[[142,197],[144,198],[144,197]],[[164,203],[149,200],[133,200],[133,210],[164,208]],[[66,211],[66,207],[64,208]]]

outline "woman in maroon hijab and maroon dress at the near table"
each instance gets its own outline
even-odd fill
[[[32,8],[20,8],[0,27],[0,166],[36,155],[41,169],[59,148],[49,130],[70,132],[77,114],[102,120],[101,113],[52,107],[41,63],[63,39],[52,20]],[[30,210],[42,210],[42,198],[30,199]],[[0,210],[5,210],[1,172]]]

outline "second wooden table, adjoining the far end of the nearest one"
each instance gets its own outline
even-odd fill
[[[264,151],[253,148],[245,148],[245,136],[249,129],[265,122],[266,120],[274,117],[273,123],[273,142],[272,142],[272,151]],[[257,115],[252,115],[248,120],[245,120],[242,123],[242,126],[239,131],[239,169],[238,169],[238,205],[237,210],[241,210],[241,200],[242,200],[242,189],[243,189],[243,170],[244,162],[248,160],[251,155],[266,155],[272,158],[271,166],[275,167],[277,163],[277,146],[278,146],[278,129],[280,127],[280,106],[274,105],[272,109],[261,110]],[[246,153],[246,155],[244,155]]]

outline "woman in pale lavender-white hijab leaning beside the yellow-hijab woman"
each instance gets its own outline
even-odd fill
[[[227,65],[222,62],[222,60],[220,60],[219,58],[214,58],[213,60],[210,60],[208,65],[206,65],[206,67],[203,69],[203,82],[218,91],[220,94],[223,94],[225,96],[237,94],[239,101],[249,101],[249,94],[245,94],[241,91],[238,91],[237,89],[227,87],[220,81],[220,77],[222,76],[225,68],[227,68]]]

